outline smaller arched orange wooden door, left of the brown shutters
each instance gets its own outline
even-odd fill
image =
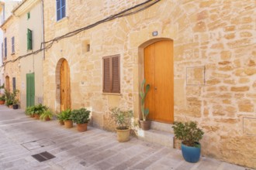
[[[71,108],[70,71],[67,60],[61,63],[61,111]]]

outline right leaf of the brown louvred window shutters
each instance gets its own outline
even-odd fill
[[[112,93],[120,93],[120,57],[112,57]]]

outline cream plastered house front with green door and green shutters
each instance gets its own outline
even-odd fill
[[[43,5],[40,0],[26,0],[12,11],[18,19],[20,107],[43,103]],[[28,32],[31,31],[31,49],[28,48]],[[31,54],[31,55],[28,55]],[[27,56],[26,56],[27,55]]]

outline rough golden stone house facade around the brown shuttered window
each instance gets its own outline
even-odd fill
[[[72,109],[90,107],[93,125],[104,129],[112,127],[110,107],[132,109],[140,117],[145,52],[156,46],[162,56],[158,43],[170,42],[173,75],[164,80],[173,92],[162,107],[174,100],[171,121],[199,123],[203,155],[255,168],[256,2],[153,1],[140,12],[92,25],[142,2],[68,0],[60,14],[55,1],[44,1],[44,104],[57,112],[64,101]],[[71,36],[62,39],[65,34]],[[113,55],[120,61],[120,93],[103,93],[103,57]],[[70,91],[62,89],[62,74]]]

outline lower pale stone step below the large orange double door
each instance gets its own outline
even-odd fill
[[[149,131],[138,129],[137,136],[143,141],[164,145],[168,148],[174,148],[175,135],[170,132],[158,131],[154,129],[150,129]]]

